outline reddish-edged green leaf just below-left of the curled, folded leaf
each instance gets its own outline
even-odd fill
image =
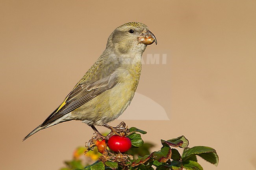
[[[167,162],[172,155],[172,150],[169,146],[163,146],[161,150],[155,151],[152,153],[154,159],[156,159],[158,162]]]

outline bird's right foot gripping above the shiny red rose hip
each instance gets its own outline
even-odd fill
[[[126,133],[130,132],[125,122],[121,122],[116,127],[109,126],[108,124],[103,124],[103,126],[111,130],[111,132],[106,136],[107,139],[109,139],[109,137],[111,137],[113,133],[123,136],[126,135]]]

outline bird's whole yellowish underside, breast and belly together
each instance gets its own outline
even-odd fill
[[[117,119],[129,106],[139,83],[141,62],[122,65],[116,71],[118,83],[76,110],[77,120],[102,125]]]

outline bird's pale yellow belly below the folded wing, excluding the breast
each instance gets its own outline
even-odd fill
[[[104,91],[80,108],[72,111],[71,114],[74,119],[89,125],[101,126],[104,123],[114,121],[129,106],[136,88],[137,82],[120,82],[115,87]]]

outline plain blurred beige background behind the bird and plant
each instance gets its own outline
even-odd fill
[[[1,169],[57,170],[88,141],[93,131],[76,121],[22,139],[95,62],[111,32],[131,21],[158,39],[145,54],[169,51],[166,65],[143,65],[137,92],[170,120],[126,123],[148,131],[143,138],[156,150],[160,139],[179,135],[215,148],[219,166],[199,160],[206,170],[255,169],[255,9],[255,0],[1,0]]]

